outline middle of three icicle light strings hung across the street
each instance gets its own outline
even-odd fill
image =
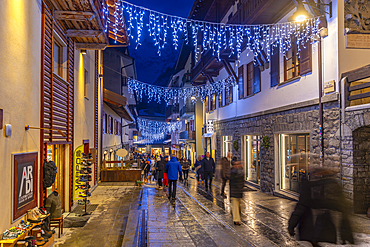
[[[127,86],[129,93],[136,94],[137,98],[142,101],[143,96],[146,95],[148,102],[156,101],[160,103],[162,100],[167,103],[179,103],[180,99],[186,101],[191,99],[193,103],[196,102],[196,98],[205,100],[208,95],[220,94],[224,90],[228,91],[231,86],[235,86],[236,82],[233,78],[228,77],[224,80],[220,80],[215,83],[208,83],[201,86],[195,87],[161,87],[138,80],[128,78]]]

